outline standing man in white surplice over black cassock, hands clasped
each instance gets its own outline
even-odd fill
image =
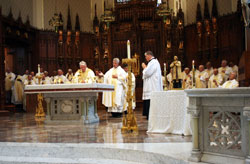
[[[163,91],[162,78],[161,78],[161,66],[157,59],[154,58],[154,55],[151,51],[145,52],[145,58],[148,62],[148,65],[142,63],[143,68],[143,115],[149,116],[150,108],[150,98],[153,91]]]

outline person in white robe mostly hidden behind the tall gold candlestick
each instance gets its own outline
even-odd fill
[[[125,91],[125,98],[124,98],[124,111],[127,111],[127,107],[128,107],[128,102],[127,102],[127,93],[128,93],[128,65],[127,64],[123,64],[123,69],[126,72],[126,80],[125,80],[125,84],[126,84],[126,91]],[[131,96],[132,96],[132,109],[135,109],[136,107],[136,99],[135,99],[135,75],[133,72],[131,72],[131,76],[132,76],[132,92],[131,92]]]

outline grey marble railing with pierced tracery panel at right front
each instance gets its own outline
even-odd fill
[[[190,161],[250,163],[250,88],[185,90],[193,149]]]

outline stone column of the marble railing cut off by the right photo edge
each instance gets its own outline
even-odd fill
[[[247,146],[247,157],[246,157],[245,163],[250,164],[250,98],[248,99],[248,101],[245,100],[245,102],[248,103],[248,104],[245,104],[247,106],[243,108],[243,116],[245,116],[247,121],[248,121],[248,124],[247,124],[248,135],[246,135],[247,136],[246,140],[248,141],[248,146]]]

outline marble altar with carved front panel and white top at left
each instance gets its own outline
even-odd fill
[[[25,94],[42,93],[47,104],[46,120],[83,120],[99,122],[98,92],[112,92],[108,84],[47,84],[27,85]]]

